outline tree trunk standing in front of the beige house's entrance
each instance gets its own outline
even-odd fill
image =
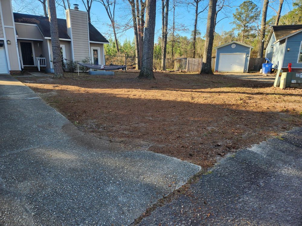
[[[63,67],[62,67],[62,59],[61,59],[55,0],[48,0],[48,14],[49,14],[49,24],[50,24],[51,45],[53,51],[53,68],[55,71],[55,76],[62,77]]]

